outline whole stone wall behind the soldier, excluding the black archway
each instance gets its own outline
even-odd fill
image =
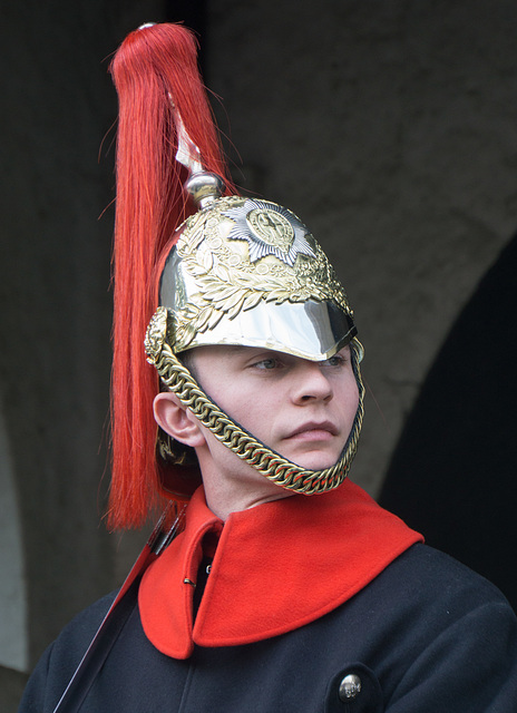
[[[455,319],[517,228],[510,0],[6,8],[2,711],[143,538],[100,521],[116,118],[106,58],[140,22],[181,17],[199,29],[206,81],[224,99],[236,180],[311,226],[355,307],[369,397],[353,477],[372,495]]]

